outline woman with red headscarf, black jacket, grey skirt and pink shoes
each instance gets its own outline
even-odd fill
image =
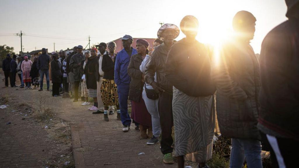
[[[89,51],[86,51],[89,53]],[[86,53],[85,53],[86,54]],[[91,48],[90,50],[91,56],[87,58],[86,65],[84,67],[84,75],[85,75],[85,82],[86,88],[88,89],[89,97],[93,98],[94,106],[97,102],[97,79],[96,79],[96,63],[97,63],[97,49]],[[82,65],[82,64],[81,64]],[[84,64],[83,64],[84,65]],[[88,102],[88,100],[87,100]]]

